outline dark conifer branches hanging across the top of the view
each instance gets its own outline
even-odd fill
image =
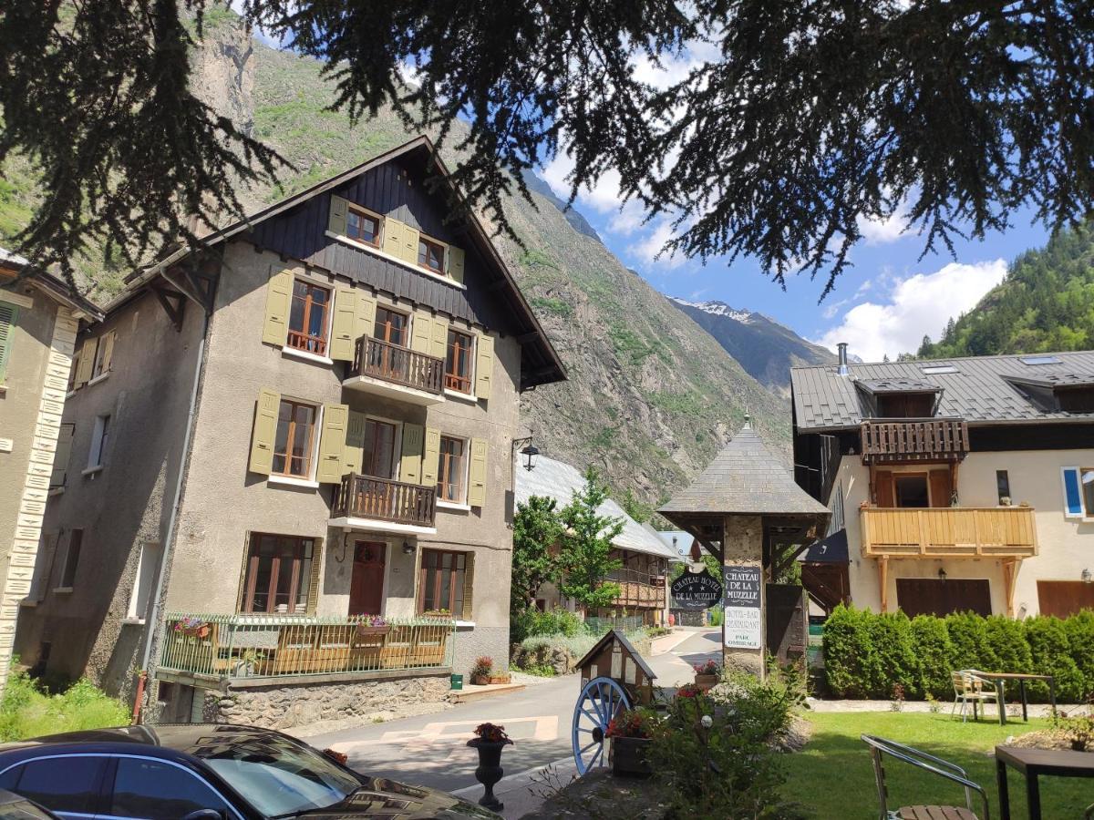
[[[24,249],[65,263],[90,239],[193,241],[176,204],[213,221],[237,210],[233,175],[271,173],[276,156],[187,89],[183,12],[225,4],[5,5],[0,157],[33,157],[48,189]],[[507,195],[527,195],[522,172],[563,152],[571,194],[618,172],[624,198],[674,222],[667,249],[748,254],[780,282],[828,271],[829,288],[861,218],[906,208],[931,248],[954,225],[982,236],[1031,206],[1061,225],[1094,206],[1089,3],[245,0],[242,10],[323,60],[334,107],[350,117],[391,105],[442,143],[466,118],[470,159],[456,181],[514,236]],[[636,70],[689,58],[668,87]],[[407,66],[411,86],[399,79]]]

